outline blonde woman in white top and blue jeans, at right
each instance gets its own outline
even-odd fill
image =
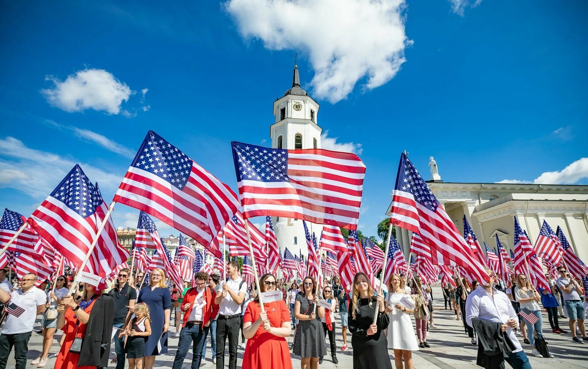
[[[543,357],[543,355],[535,348],[535,337],[533,335],[533,331],[537,331],[537,335],[543,336],[543,317],[538,303],[541,301],[541,296],[537,293],[531,283],[529,283],[529,280],[527,280],[527,277],[524,274],[517,275],[516,285],[515,296],[517,302],[520,304],[520,311],[526,314],[533,314],[537,317],[536,323],[531,324],[524,318],[524,316],[521,316],[521,319],[524,320],[524,323],[527,326],[527,339],[531,346],[531,354],[536,357]],[[553,355],[551,356],[554,357]]]

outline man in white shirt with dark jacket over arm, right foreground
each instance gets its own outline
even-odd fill
[[[490,269],[486,269],[490,276],[489,283],[478,286],[466,299],[466,322],[470,327],[473,327],[472,318],[479,318],[483,320],[494,321],[500,323],[502,331],[505,331],[516,350],[514,350],[508,358],[507,363],[513,369],[531,369],[529,358],[520,346],[519,340],[515,336],[515,329],[518,326],[515,309],[510,303],[509,298],[504,292],[500,292],[493,288],[494,277]]]

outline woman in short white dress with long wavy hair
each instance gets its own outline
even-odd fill
[[[413,329],[410,319],[413,310],[401,304],[400,300],[406,297],[410,303],[414,304],[415,302],[403,284],[400,276],[396,273],[393,273],[386,283],[389,291],[386,296],[386,312],[390,315],[387,339],[388,348],[394,349],[396,368],[402,368],[404,359],[405,369],[412,369],[412,351],[418,351],[419,344],[416,341],[415,329]]]

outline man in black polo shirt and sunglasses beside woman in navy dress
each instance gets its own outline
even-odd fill
[[[108,293],[114,299],[114,321],[112,322],[113,327],[121,328],[122,324],[125,323],[126,316],[131,314],[131,310],[127,306],[135,306],[135,300],[137,299],[137,292],[126,283],[129,280],[129,269],[121,269],[118,272],[118,278],[116,279],[116,286]],[[118,334],[115,334],[114,338],[114,350],[116,353],[116,369],[124,369],[125,367],[125,351],[123,350],[124,338],[118,338]]]

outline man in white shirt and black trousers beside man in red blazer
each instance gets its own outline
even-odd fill
[[[237,368],[237,344],[241,328],[241,304],[245,301],[247,284],[239,276],[239,263],[226,265],[226,274],[230,278],[222,284],[216,294],[215,303],[219,304],[219,317],[216,320],[216,369],[225,366],[225,341],[229,338],[229,369]]]

